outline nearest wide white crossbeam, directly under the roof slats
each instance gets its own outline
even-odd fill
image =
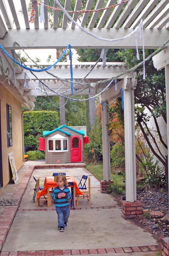
[[[102,38],[116,39],[125,37],[133,32],[133,29],[87,29],[91,33]],[[31,43],[28,40],[31,38]],[[49,40],[50,38],[50,40]],[[77,40],[78,38],[78,40]],[[159,48],[168,39],[167,29],[144,29],[144,47],[149,49]],[[18,42],[24,49],[49,49],[66,48],[71,44],[72,48],[135,48],[135,34],[114,42],[98,40],[83,32],[81,29],[62,28],[54,29],[11,29],[1,42],[5,49],[12,49],[13,42]],[[137,40],[138,47],[142,48],[142,40]],[[16,49],[19,47],[16,45]]]

